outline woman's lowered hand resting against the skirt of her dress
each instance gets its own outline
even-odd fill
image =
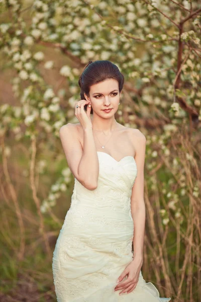
[[[121,282],[126,275],[128,278],[120,284],[117,284],[115,290],[123,289],[119,294],[124,292],[131,292],[135,289],[140,275],[140,270],[142,267],[143,259],[142,257],[135,257],[132,262],[127,265],[124,271],[119,276],[119,282]]]

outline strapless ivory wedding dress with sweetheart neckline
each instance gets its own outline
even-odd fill
[[[119,295],[117,279],[133,260],[131,192],[137,177],[132,156],[119,162],[97,152],[98,185],[88,190],[75,179],[71,205],[53,252],[59,302],[161,302],[157,288],[140,272],[136,288]],[[124,280],[127,276],[124,278]]]

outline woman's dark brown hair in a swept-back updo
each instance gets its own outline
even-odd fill
[[[89,96],[90,86],[103,82],[106,79],[115,79],[119,83],[119,92],[121,93],[124,86],[124,75],[120,72],[117,65],[108,60],[89,61],[84,67],[79,77],[80,98],[85,100],[84,93]],[[87,105],[84,106],[86,110]],[[91,108],[91,114],[93,109]]]

